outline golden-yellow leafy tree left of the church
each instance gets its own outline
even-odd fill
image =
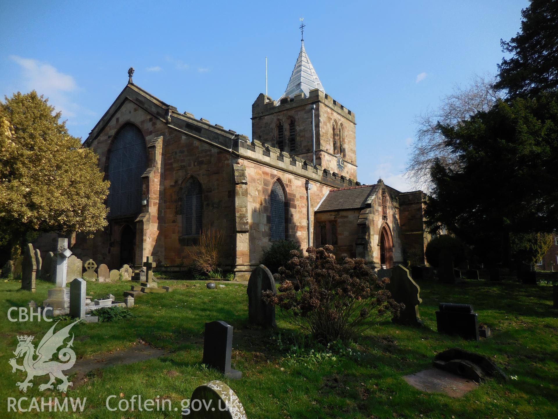
[[[98,156],[59,120],[35,91],[0,102],[0,266],[30,233],[107,225]]]

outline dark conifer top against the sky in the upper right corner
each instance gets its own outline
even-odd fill
[[[498,65],[495,87],[507,89],[509,97],[535,96],[558,88],[558,2],[531,0],[521,11],[521,32],[502,50],[512,58]]]

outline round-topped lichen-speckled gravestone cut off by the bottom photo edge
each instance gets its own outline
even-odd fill
[[[190,408],[182,411],[182,417],[193,419],[247,419],[244,407],[238,396],[230,387],[219,380],[200,385],[192,393],[191,401],[200,401],[198,409],[190,404]]]

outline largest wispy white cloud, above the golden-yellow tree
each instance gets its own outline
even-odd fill
[[[54,66],[32,58],[22,58],[18,55],[11,55],[9,58],[19,64],[23,70],[21,90],[35,90],[38,94],[49,98],[49,103],[56,111],[62,112],[62,117],[71,119],[68,125],[89,123],[87,120],[80,120],[78,115],[82,117],[95,115],[95,112],[74,102],[72,96],[81,89],[71,75],[61,73]]]

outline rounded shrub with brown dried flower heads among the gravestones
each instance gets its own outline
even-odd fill
[[[306,251],[301,258],[293,250],[275,274],[280,293],[263,292],[265,302],[286,311],[287,321],[329,344],[349,340],[388,315],[398,316],[403,306],[385,289],[389,280],[379,280],[364,259],[343,255],[338,263],[331,245]]]

